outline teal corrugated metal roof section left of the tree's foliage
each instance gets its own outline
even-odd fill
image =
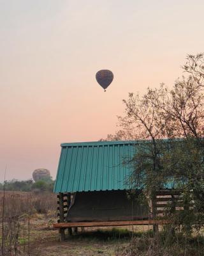
[[[129,189],[135,141],[62,143],[54,192]]]

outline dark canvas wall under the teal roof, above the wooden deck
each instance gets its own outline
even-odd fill
[[[69,207],[66,221],[148,220],[148,204],[125,190],[77,192]]]

